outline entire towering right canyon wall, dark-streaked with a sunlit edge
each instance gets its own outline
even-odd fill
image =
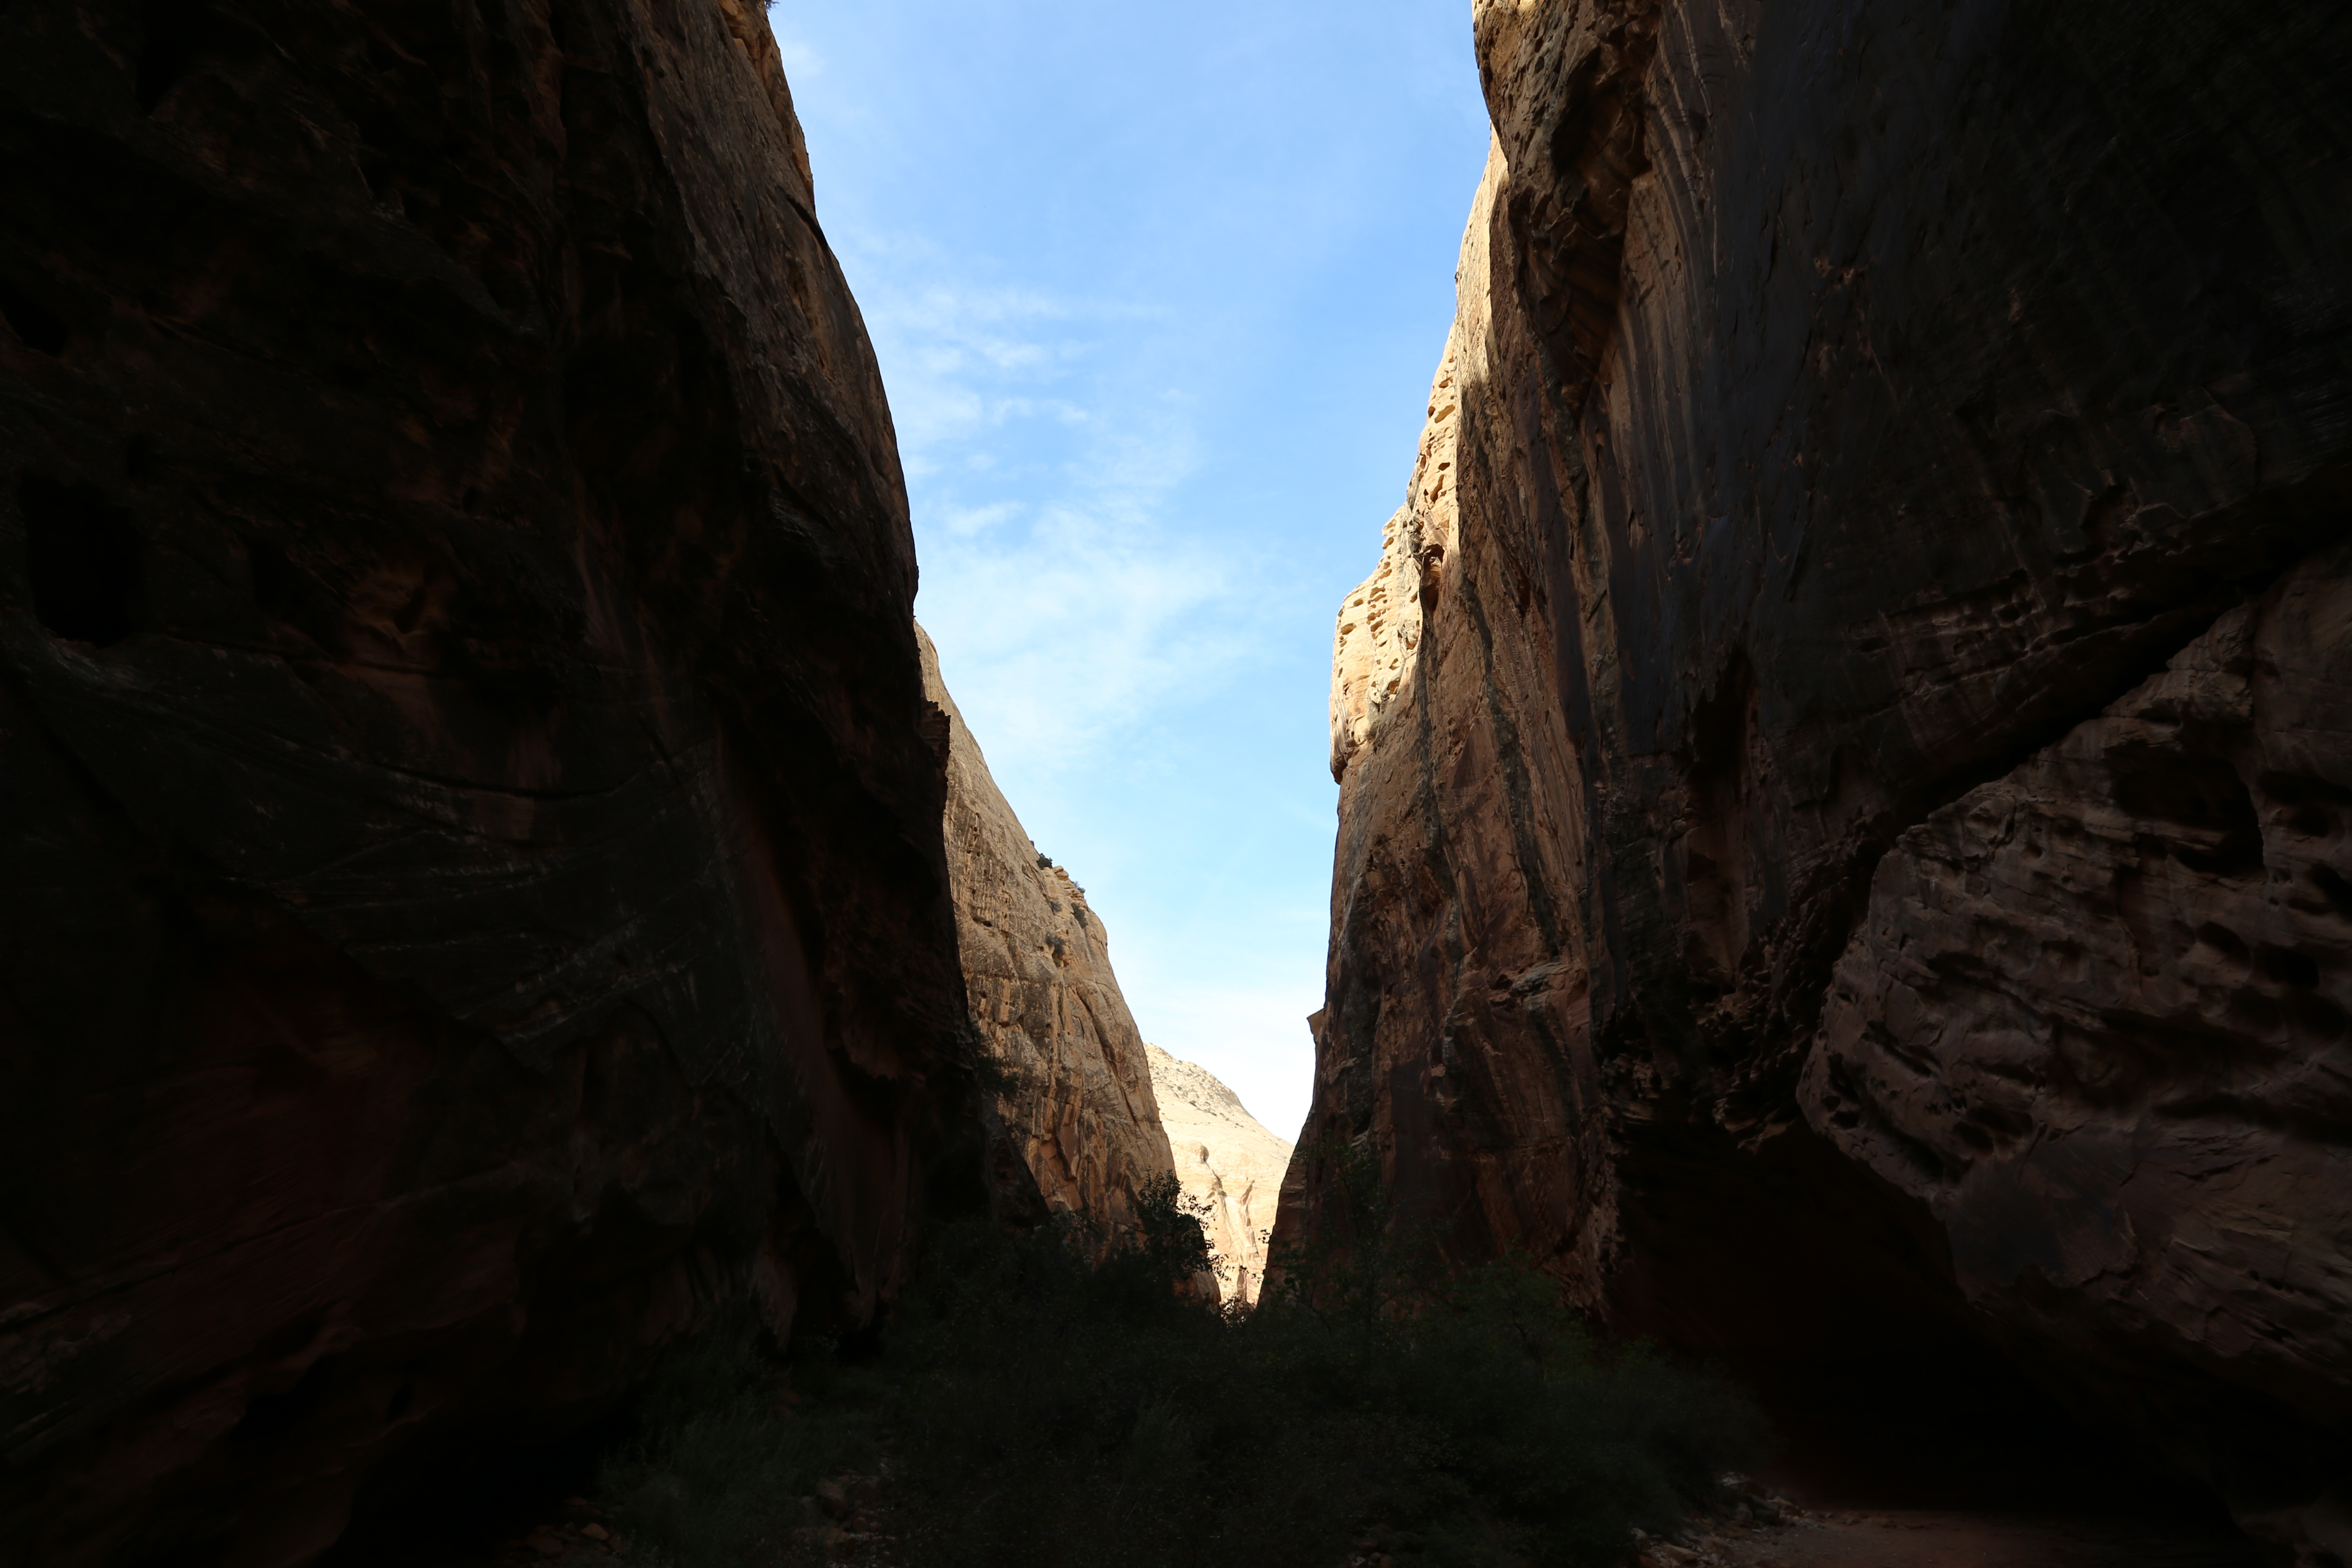
[[[2030,1366],[2321,1549],[2352,14],[1475,26],[1279,1234],[1369,1140],[1628,1328],[1915,1403]]]

